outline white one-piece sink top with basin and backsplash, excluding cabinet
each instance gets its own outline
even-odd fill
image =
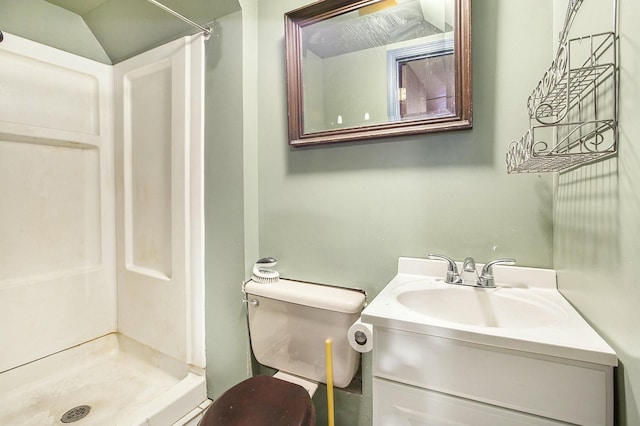
[[[446,284],[445,262],[400,258],[398,274],[362,311],[361,320],[374,331],[616,365],[615,352],[558,292],[555,271],[496,265],[493,272],[493,289]]]

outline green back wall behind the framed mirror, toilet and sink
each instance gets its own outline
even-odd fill
[[[307,3],[259,3],[260,255],[276,257],[283,276],[369,298],[398,256],[551,267],[552,176],[508,176],[504,161],[550,60],[551,2],[473,2],[472,130],[292,149],[283,14]],[[364,368],[364,396],[338,394],[337,424],[370,424],[369,356]]]

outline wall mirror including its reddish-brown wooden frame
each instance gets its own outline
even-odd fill
[[[324,0],[285,14],[289,143],[470,128],[471,0]]]

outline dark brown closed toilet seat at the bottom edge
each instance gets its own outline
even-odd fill
[[[200,426],[313,426],[315,421],[313,402],[302,386],[255,376],[216,399]]]

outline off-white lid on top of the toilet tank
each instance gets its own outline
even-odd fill
[[[362,311],[365,303],[365,295],[361,290],[282,278],[268,284],[249,281],[244,291],[254,296],[348,314]]]

